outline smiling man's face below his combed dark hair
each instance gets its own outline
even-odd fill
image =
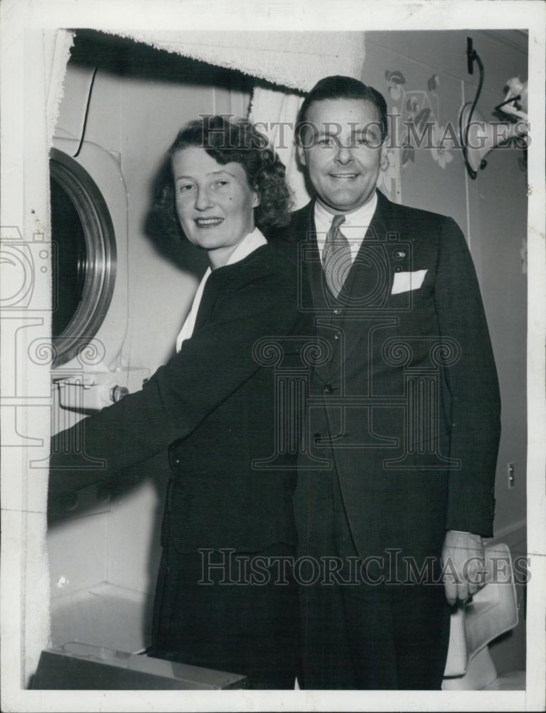
[[[302,139],[299,160],[307,166],[326,210],[347,213],[370,200],[386,146],[381,143],[374,103],[366,99],[315,101],[307,111]]]

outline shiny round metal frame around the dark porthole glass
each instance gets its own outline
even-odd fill
[[[95,181],[71,156],[52,148],[50,177],[70,198],[83,227],[86,241],[86,275],[81,301],[61,334],[53,337],[53,366],[71,361],[103,324],[112,301],[117,252],[108,206]],[[51,240],[56,243],[54,227]],[[55,289],[55,285],[53,285]]]

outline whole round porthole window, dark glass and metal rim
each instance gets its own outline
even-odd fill
[[[115,235],[91,176],[66,153],[51,150],[53,366],[73,359],[98,332],[115,282]]]

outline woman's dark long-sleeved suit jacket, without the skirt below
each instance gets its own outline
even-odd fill
[[[50,492],[101,481],[169,448],[170,545],[195,553],[295,543],[297,454],[283,469],[253,467],[274,453],[276,424],[274,367],[253,347],[270,338],[282,345],[284,368],[299,362],[294,337],[310,332],[299,289],[297,265],[270,244],[214,270],[180,352],[142,391],[83,422],[86,456],[102,466],[90,468],[74,451],[79,424],[54,436]]]

